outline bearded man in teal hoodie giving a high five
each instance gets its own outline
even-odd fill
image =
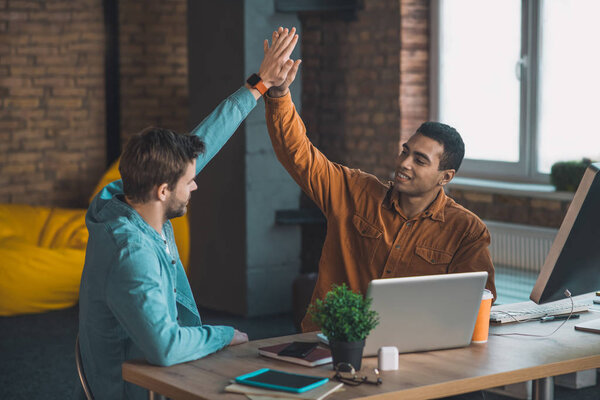
[[[232,327],[202,324],[169,220],[186,213],[197,188],[194,177],[256,100],[283,83],[297,39],[292,29],[274,35],[270,47],[265,41],[258,76],[191,134],[150,128],[133,137],[121,156],[122,179],[92,201],[86,214],[90,237],[81,278],[79,346],[96,399],[147,398],[145,390],[123,381],[126,360],[168,366],[248,341]]]

